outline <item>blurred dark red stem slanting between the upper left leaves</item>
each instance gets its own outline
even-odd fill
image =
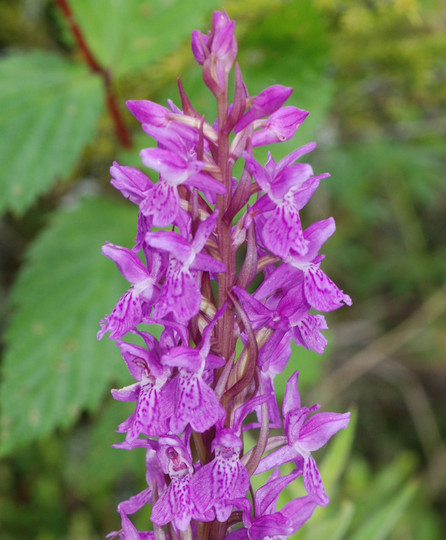
[[[56,1],[56,4],[59,6],[63,16],[65,17],[70,27],[71,33],[76,39],[79,49],[84,54],[85,60],[89,68],[91,69],[93,73],[98,73],[104,81],[107,108],[108,108],[108,112],[110,113],[113,119],[113,123],[115,125],[115,132],[119,139],[119,142],[122,144],[122,146],[126,146],[126,147],[132,146],[130,132],[127,129],[127,126],[125,125],[124,119],[122,118],[122,115],[119,111],[119,108],[116,102],[116,96],[112,90],[111,77],[110,77],[109,71],[107,71],[104,67],[102,67],[99,64],[99,62],[96,60],[96,58],[94,57],[92,51],[90,50],[88,46],[88,43],[86,42],[84,38],[84,35],[82,34],[82,31],[79,25],[76,23],[74,14],[71,10],[68,0],[55,0],[55,1]]]

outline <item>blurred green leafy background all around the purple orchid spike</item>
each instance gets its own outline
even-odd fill
[[[355,302],[329,317],[324,357],[296,349],[290,364],[301,370],[304,401],[313,389],[326,410],[358,409],[356,430],[338,434],[324,456],[332,503],[296,538],[444,538],[445,4],[70,5],[107,87],[55,2],[0,0],[2,538],[101,538],[119,528],[116,504],[144,486],[143,455],[111,448],[130,411],[108,389],[128,376],[117,350],[95,340],[98,320],[125,286],[100,246],[130,247],[136,223],[107,171],[114,159],[137,165],[139,148],[153,144],[125,112],[126,99],[178,102],[181,75],[196,109],[213,118],[188,39],[222,7],[237,21],[250,93],[292,86],[290,103],[310,111],[295,139],[271,150],[279,159],[318,141],[311,162],[332,178],[302,218],[336,218],[326,268]],[[132,133],[130,148],[109,114],[110,94]],[[440,308],[429,318],[423,305],[431,295]],[[404,334],[411,317],[416,340]],[[373,363],[388,332],[391,358],[327,404],[318,385],[346,360],[355,369],[352,355],[365,346]]]

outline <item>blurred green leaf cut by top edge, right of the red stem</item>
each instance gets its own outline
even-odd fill
[[[75,0],[79,26],[99,63],[115,76],[173,51],[203,24],[217,0]],[[209,25],[209,24],[208,24]]]

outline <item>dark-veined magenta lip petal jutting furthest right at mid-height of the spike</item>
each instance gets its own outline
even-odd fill
[[[351,306],[350,296],[344,294],[318,266],[304,270],[304,293],[307,302],[318,311],[333,311],[344,303]]]

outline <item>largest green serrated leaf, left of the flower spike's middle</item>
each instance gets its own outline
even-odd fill
[[[94,410],[111,381],[128,384],[113,342],[98,343],[96,332],[128,288],[100,248],[131,243],[135,223],[131,205],[84,200],[57,211],[31,246],[12,291],[0,453]]]

